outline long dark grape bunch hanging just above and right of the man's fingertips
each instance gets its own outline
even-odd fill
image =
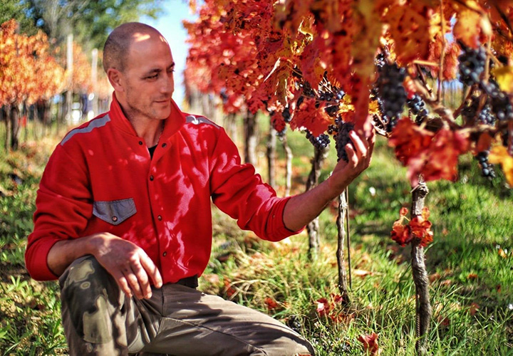
[[[383,122],[387,125],[386,130],[390,132],[395,127],[406,103],[406,92],[403,87],[406,71],[395,63],[383,63],[381,67],[378,66],[378,74],[373,95],[378,98]]]

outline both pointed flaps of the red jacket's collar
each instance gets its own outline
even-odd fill
[[[118,98],[115,96],[115,92],[113,93],[113,100],[110,103],[110,112],[109,112],[111,120],[120,130],[124,132],[136,136],[137,132],[133,128],[132,124],[128,120],[128,118],[121,110],[121,106],[118,102]],[[175,103],[175,100],[171,99],[171,112],[170,115],[165,119],[164,131],[162,132],[162,137],[160,137],[160,141],[167,141],[175,135],[175,133],[180,130],[180,128],[185,124],[185,114],[178,108],[178,105]]]

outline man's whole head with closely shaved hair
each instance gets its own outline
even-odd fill
[[[162,120],[170,115],[174,68],[169,44],[144,23],[118,26],[103,48],[103,69],[129,119]]]

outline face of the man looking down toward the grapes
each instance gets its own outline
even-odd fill
[[[172,59],[168,43],[154,33],[135,34],[123,70],[125,108],[130,117],[162,120],[171,112],[175,90]]]

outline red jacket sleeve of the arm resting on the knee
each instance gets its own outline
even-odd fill
[[[81,154],[72,158],[59,144],[46,164],[37,192],[34,228],[25,251],[28,273],[38,281],[58,278],[48,268],[48,252],[57,241],[78,238],[92,215],[83,162]]]

